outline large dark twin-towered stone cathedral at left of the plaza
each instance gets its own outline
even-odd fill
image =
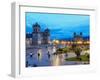
[[[33,24],[32,27],[32,45],[49,44],[50,30],[47,28],[42,32],[41,26],[38,23]]]

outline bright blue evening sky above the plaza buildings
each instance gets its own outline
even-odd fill
[[[51,39],[72,38],[73,32],[83,32],[83,36],[89,36],[90,16],[75,14],[50,14],[31,13],[26,14],[26,32],[32,32],[32,25],[40,24],[41,31],[50,29]]]

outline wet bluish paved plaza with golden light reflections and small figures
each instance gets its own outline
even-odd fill
[[[51,66],[51,65],[74,65],[81,64],[80,62],[65,61],[66,55],[53,55],[55,48],[52,46],[41,48],[28,48],[26,49],[26,62],[28,66]],[[82,52],[83,55],[85,52]],[[68,53],[68,58],[75,57],[75,53]]]

